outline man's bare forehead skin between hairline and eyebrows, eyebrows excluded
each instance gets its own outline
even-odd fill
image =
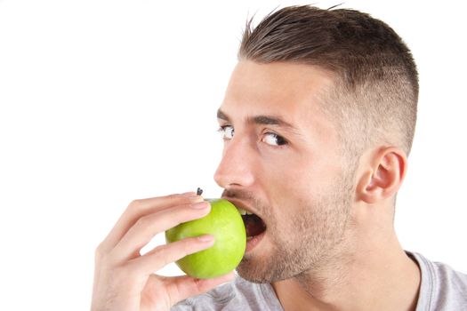
[[[230,76],[222,106],[244,110],[258,108],[284,116],[310,107],[326,96],[334,85],[334,76],[324,69],[291,62],[259,64],[238,62]],[[227,112],[226,109],[222,109]],[[300,111],[302,113],[302,111]]]

